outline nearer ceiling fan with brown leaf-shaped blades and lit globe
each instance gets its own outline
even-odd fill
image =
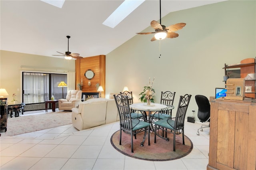
[[[151,27],[154,28],[155,32],[139,32],[136,34],[154,34],[154,37],[151,39],[151,41],[155,40],[163,40],[164,38],[176,38],[179,36],[179,34],[175,33],[175,31],[182,29],[184,26],[186,26],[186,23],[177,23],[170,25],[168,27],[161,24],[161,0],[160,0],[160,23],[153,20],[150,23]]]

